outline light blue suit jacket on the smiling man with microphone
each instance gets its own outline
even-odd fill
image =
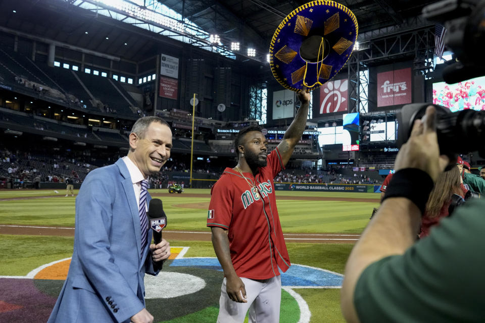
[[[144,274],[158,274],[149,243],[140,259],[140,240],[138,205],[124,161],[90,172],[76,198],[69,273],[48,322],[129,322],[145,306]]]

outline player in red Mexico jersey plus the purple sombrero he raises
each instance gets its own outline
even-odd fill
[[[338,45],[339,41],[343,43],[341,33],[336,33],[339,26],[353,28],[348,37],[351,40],[347,40],[350,44]],[[269,154],[261,128],[239,131],[234,140],[238,163],[226,168],[212,187],[207,226],[212,230],[212,243],[225,276],[219,300],[220,323],[242,323],[248,310],[249,322],[279,322],[280,273],[288,270],[290,262],[273,178],[284,169],[305,130],[309,91],[328,81],[347,62],[356,28],[354,15],[344,6],[314,1],[290,13],[273,36],[271,69],[284,87],[298,92],[301,106],[283,140]]]

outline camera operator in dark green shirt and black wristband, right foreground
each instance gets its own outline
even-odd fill
[[[484,320],[485,201],[467,201],[415,241],[427,196],[449,162],[428,106],[396,158],[395,185],[349,256],[341,295],[348,322]]]

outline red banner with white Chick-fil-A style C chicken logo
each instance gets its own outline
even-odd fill
[[[348,80],[329,81],[320,86],[320,114],[347,112]]]

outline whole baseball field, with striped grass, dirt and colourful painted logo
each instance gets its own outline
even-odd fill
[[[76,192],[75,192],[76,193]],[[171,256],[146,276],[155,322],[215,322],[223,274],[206,227],[210,191],[150,190],[167,214]],[[281,276],[280,322],[343,322],[340,286],[346,259],[379,204],[375,193],[276,191],[292,266]],[[75,196],[60,190],[0,191],[0,316],[44,322],[69,268]]]

